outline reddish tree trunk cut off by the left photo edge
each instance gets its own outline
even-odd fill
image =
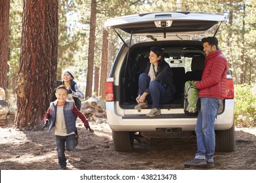
[[[10,0],[0,1],[0,87],[7,92],[7,73],[9,66],[9,12]]]

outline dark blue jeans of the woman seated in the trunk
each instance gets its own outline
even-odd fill
[[[160,82],[153,80],[150,82],[150,77],[146,73],[139,76],[139,94],[140,96],[149,88],[148,100],[152,101],[152,108],[160,108],[160,103],[168,103],[169,97],[166,95],[165,88]]]

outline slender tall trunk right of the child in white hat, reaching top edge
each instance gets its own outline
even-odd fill
[[[87,84],[85,97],[91,97],[93,86],[93,65],[95,59],[96,0],[91,1],[91,21],[88,51]]]

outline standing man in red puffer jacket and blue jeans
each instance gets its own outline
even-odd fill
[[[202,39],[205,52],[205,67],[202,80],[196,83],[200,90],[201,109],[196,122],[198,150],[192,161],[184,162],[185,167],[214,167],[215,152],[214,122],[223,99],[226,96],[226,72],[228,63],[218,48],[216,37]],[[193,81],[192,81],[193,82]]]

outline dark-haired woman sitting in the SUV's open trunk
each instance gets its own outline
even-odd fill
[[[173,99],[175,86],[171,67],[164,60],[163,50],[160,47],[150,48],[150,65],[139,76],[139,93],[136,109],[148,107],[146,99],[152,101],[152,110],[148,117],[160,115],[160,103],[169,103]]]

